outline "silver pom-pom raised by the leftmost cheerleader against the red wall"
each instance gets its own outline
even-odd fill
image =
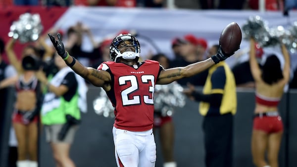
[[[34,42],[38,40],[42,30],[39,14],[24,13],[19,16],[19,20],[12,23],[8,36],[21,43]]]

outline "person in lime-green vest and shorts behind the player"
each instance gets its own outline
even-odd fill
[[[75,74],[59,56],[54,56],[58,72],[49,81],[43,71],[38,71],[38,80],[46,85],[41,121],[45,127],[57,167],[75,167],[69,157],[69,150],[74,140],[80,111],[86,111],[87,86],[81,77]]]

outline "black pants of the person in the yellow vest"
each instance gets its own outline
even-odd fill
[[[202,128],[206,167],[232,167],[233,115],[205,116]]]

